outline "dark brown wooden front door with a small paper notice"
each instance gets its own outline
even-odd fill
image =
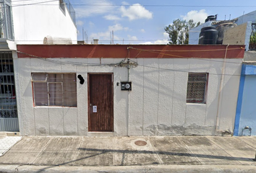
[[[114,131],[113,74],[88,74],[89,131]]]

